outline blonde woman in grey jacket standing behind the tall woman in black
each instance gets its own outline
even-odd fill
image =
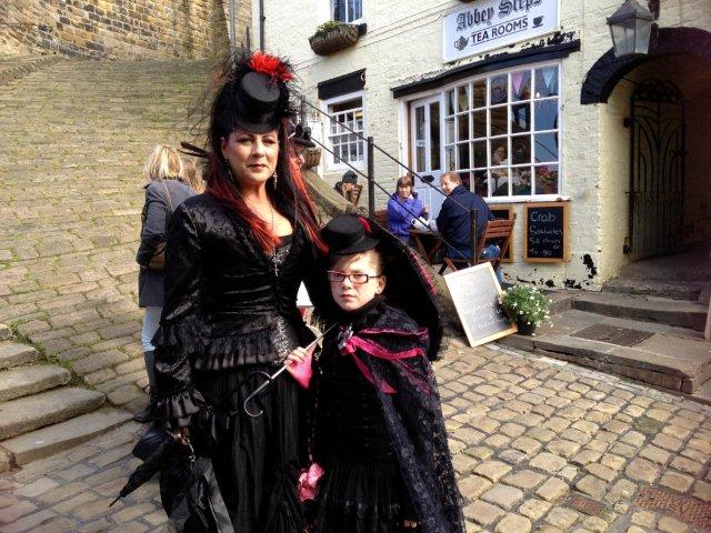
[[[133,415],[137,422],[148,422],[156,406],[156,375],[153,373],[153,344],[163,308],[163,269],[151,268],[151,259],[166,245],[166,228],[172,212],[196,191],[183,182],[183,163],[178,151],[166,144],[153,149],[146,161],[143,173],[148,184],[141,215],[141,243],[136,261],[138,274],[138,305],[143,309],[141,345],[148,372],[148,406]]]

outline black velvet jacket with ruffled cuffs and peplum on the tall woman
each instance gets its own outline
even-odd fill
[[[189,425],[203,406],[193,370],[274,362],[274,316],[291,323],[301,345],[313,338],[296,301],[299,284],[309,281],[304,275],[317,272],[314,250],[294,224],[277,271],[247,223],[213,197],[190,198],[176,210],[167,235],[166,304],[153,339],[159,419],[171,428]]]

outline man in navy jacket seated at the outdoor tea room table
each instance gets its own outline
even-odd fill
[[[494,220],[493,213],[487,202],[479,194],[471,192],[462,185],[457,172],[447,172],[440,177],[442,192],[447,199],[442,203],[440,214],[437,217],[437,229],[451,248],[447,247],[447,257],[451,259],[464,259],[472,257],[471,249],[471,219],[470,210],[477,210],[477,239],[481,239],[487,228],[487,221]],[[482,259],[493,259],[501,253],[495,244],[489,244],[481,252]],[[497,269],[497,278],[501,281],[501,271]]]

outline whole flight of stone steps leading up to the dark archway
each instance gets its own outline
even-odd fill
[[[707,258],[692,251],[630,265],[602,292],[558,295],[551,328],[501,342],[711,403],[708,303],[698,301],[711,281]]]

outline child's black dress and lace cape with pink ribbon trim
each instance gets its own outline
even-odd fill
[[[357,342],[327,335],[316,364],[312,531],[463,533],[427,331],[382,300],[338,322]]]

